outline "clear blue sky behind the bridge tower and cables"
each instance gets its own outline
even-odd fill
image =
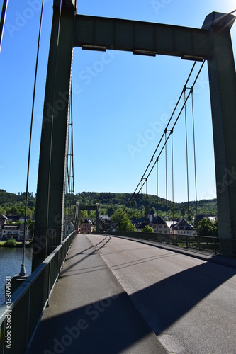
[[[2,6],[2,0],[0,1]],[[0,53],[0,188],[26,190],[28,140],[33,96],[40,1],[9,0]],[[208,13],[235,9],[234,0],[79,0],[78,13],[201,28]],[[38,176],[41,120],[52,21],[52,1],[45,1],[29,191]],[[236,23],[231,30],[236,48]],[[130,52],[74,49],[73,115],[75,192],[133,193],[172,113],[193,62],[179,57],[142,57]],[[199,67],[199,65],[198,65]],[[89,69],[90,68],[90,69]],[[92,74],[91,74],[92,68]],[[90,72],[90,73],[89,73]],[[196,84],[196,164],[198,200],[215,198],[215,168],[207,63]],[[188,105],[188,119],[191,109]],[[153,125],[158,127],[154,130]],[[190,126],[189,126],[190,127]],[[194,200],[193,152],[189,137],[189,198]],[[168,198],[172,200],[168,152]],[[184,115],[174,134],[174,200],[186,201]],[[164,158],[164,156],[163,156]],[[165,197],[164,159],[159,163],[159,195]],[[162,173],[161,173],[162,172]],[[162,177],[161,177],[162,174]],[[155,174],[153,175],[155,179]],[[153,192],[156,193],[154,184]],[[148,182],[151,193],[151,182]]]

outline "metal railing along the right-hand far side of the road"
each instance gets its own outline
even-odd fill
[[[130,237],[132,239],[142,239],[145,241],[159,242],[161,244],[174,245],[181,249],[194,249],[197,251],[207,251],[216,254],[219,252],[219,239],[213,236],[191,236],[180,234],[157,234],[152,232],[128,232],[117,231],[106,234],[113,236]]]

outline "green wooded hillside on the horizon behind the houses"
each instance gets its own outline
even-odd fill
[[[101,213],[103,215],[112,216],[116,210],[125,207],[130,200],[130,193],[96,193],[82,192],[74,196],[74,202],[79,205],[95,205],[99,203]],[[4,215],[24,215],[26,193],[8,193],[6,190],[0,190],[0,214]],[[69,200],[69,198],[66,198]],[[28,216],[33,216],[35,212],[36,197],[33,193],[28,193]],[[140,194],[135,195],[135,201],[130,205],[128,214],[130,217],[144,217],[147,212],[153,208],[154,212],[164,217],[167,215],[169,219],[188,217],[188,203],[173,203],[164,198],[157,198],[154,195]],[[198,214],[208,216],[217,215],[216,199],[200,200],[197,203]],[[89,216],[94,216],[94,212],[89,212]],[[196,202],[189,202],[189,219],[196,216]]]

